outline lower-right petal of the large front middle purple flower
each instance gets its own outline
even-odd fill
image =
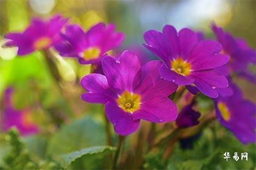
[[[141,109],[132,114],[133,120],[147,120],[154,123],[174,121],[177,118],[177,107],[169,98],[154,98],[141,104]]]

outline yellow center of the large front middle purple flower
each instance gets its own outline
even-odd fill
[[[124,91],[123,94],[116,99],[116,102],[124,112],[130,112],[130,114],[132,114],[136,110],[140,109],[140,100],[140,95]]]

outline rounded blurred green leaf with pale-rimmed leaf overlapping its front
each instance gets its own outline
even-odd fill
[[[102,124],[90,117],[75,120],[63,126],[51,138],[48,154],[59,161],[63,168],[110,168],[115,147],[104,146],[106,143],[104,132]]]

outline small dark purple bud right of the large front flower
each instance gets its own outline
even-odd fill
[[[192,109],[193,104],[185,106],[176,119],[176,124],[179,127],[190,127],[199,124],[198,118],[200,113]]]

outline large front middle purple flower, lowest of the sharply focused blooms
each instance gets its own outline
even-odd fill
[[[82,99],[105,104],[105,114],[120,135],[136,131],[140,120],[154,123],[173,121],[177,108],[169,100],[177,85],[160,78],[160,61],[140,66],[136,55],[124,51],[118,60],[105,56],[102,60],[104,75],[92,73],[82,78],[88,91]]]

